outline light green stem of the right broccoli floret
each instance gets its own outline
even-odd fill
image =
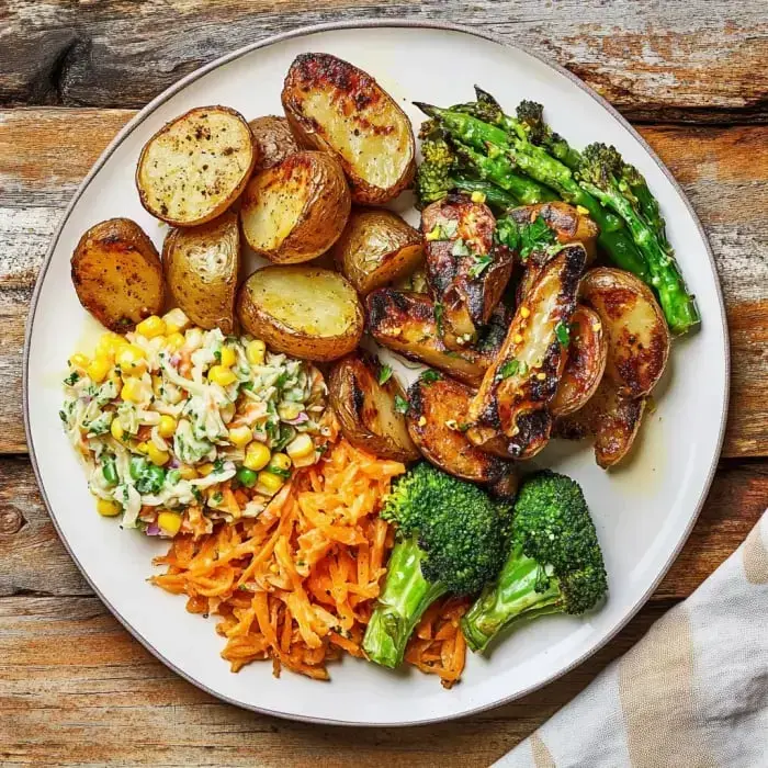
[[[538,591],[546,584],[543,591]],[[547,577],[537,561],[512,550],[493,587],[487,587],[462,619],[462,631],[473,651],[488,643],[512,622],[563,610],[556,578]]]

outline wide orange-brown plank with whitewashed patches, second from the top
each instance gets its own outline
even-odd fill
[[[61,211],[131,110],[0,111],[0,452],[24,451],[19,419],[23,325]],[[768,127],[643,126],[710,237],[732,334],[724,454],[768,454]],[[66,147],[66,151],[63,150]]]

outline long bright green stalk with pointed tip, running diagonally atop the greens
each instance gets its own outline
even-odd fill
[[[531,179],[553,189],[567,203],[585,207],[600,227],[598,242],[611,259],[643,282],[651,283],[647,264],[635,248],[621,218],[606,211],[591,194],[579,187],[567,166],[547,155],[542,147],[537,147],[527,139],[512,138],[502,128],[484,123],[472,115],[450,112],[428,104],[417,104],[417,106],[429,116],[439,118],[441,125],[456,140],[488,153],[490,162],[485,163],[486,170],[478,168],[482,177],[502,187],[497,180],[498,169],[517,168]],[[474,153],[473,161],[475,156],[485,157]],[[500,158],[507,159],[508,166]]]

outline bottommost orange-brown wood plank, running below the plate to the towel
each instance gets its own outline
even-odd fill
[[[8,598],[0,600],[0,763],[487,766],[625,653],[671,605],[647,606],[562,680],[459,727],[352,730],[290,723],[217,701],[151,657],[95,598]]]

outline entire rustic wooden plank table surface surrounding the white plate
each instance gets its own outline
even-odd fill
[[[224,53],[355,15],[490,30],[565,65],[612,101],[682,183],[707,228],[733,353],[712,493],[648,605],[607,648],[538,693],[460,723],[409,730],[259,716],[166,669],[64,551],[24,455],[21,421],[24,320],[37,269],[72,192],[115,132]],[[768,24],[756,1],[0,3],[0,763],[485,766],[690,595],[768,500],[767,64]]]

